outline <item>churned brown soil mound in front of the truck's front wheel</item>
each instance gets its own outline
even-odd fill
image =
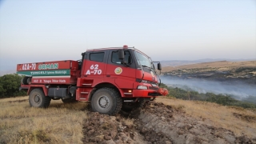
[[[122,111],[117,116],[88,112],[84,123],[85,143],[178,144],[256,143],[246,135],[206,124],[185,114],[182,107],[150,102],[145,107]]]

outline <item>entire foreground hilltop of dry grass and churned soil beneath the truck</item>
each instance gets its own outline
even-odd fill
[[[0,143],[255,143],[256,112],[210,102],[157,98],[142,110],[108,116],[85,102],[31,108],[0,99]]]

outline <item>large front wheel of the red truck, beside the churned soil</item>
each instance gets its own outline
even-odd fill
[[[122,98],[118,91],[110,88],[96,90],[91,98],[91,108],[100,114],[118,114],[122,107]]]

